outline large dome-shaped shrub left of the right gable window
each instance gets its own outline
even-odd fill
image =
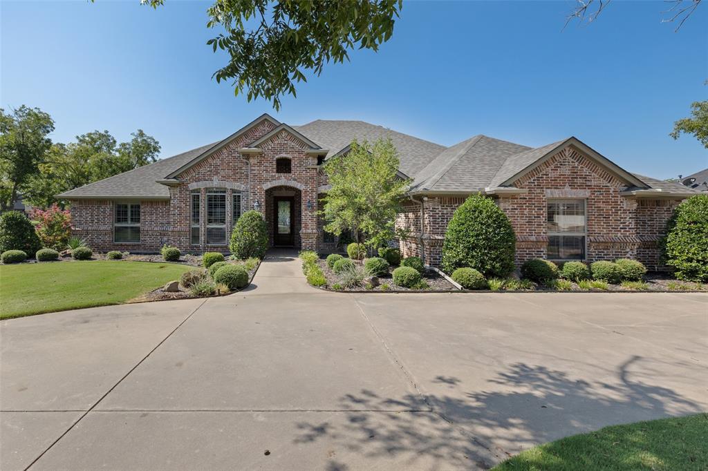
[[[485,277],[506,277],[514,269],[516,236],[493,200],[476,194],[462,203],[447,224],[442,269],[471,267]]]

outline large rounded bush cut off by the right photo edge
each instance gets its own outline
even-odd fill
[[[708,194],[690,197],[676,207],[661,249],[676,278],[708,282]]]

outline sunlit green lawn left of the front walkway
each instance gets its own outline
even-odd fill
[[[0,265],[0,318],[125,303],[190,268],[101,260]]]

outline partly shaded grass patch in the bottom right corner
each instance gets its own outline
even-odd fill
[[[708,470],[708,414],[616,425],[561,438],[493,469]]]

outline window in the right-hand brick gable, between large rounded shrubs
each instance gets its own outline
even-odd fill
[[[548,200],[549,260],[585,260],[586,201],[584,199]]]

